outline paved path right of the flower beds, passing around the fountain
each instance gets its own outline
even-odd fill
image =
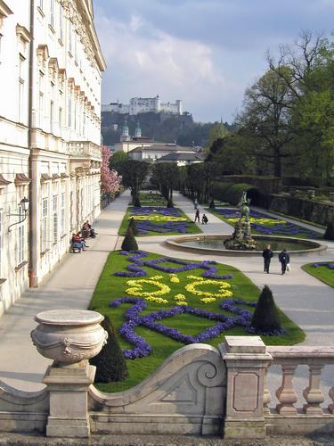
[[[195,217],[193,204],[181,194],[175,194],[175,206],[181,208],[191,219]],[[208,215],[208,225],[199,225],[204,233],[232,234],[232,226],[228,225],[215,215],[204,210]],[[302,225],[302,224],[300,224]],[[172,237],[171,237],[172,238]],[[163,244],[166,236],[138,238],[140,249],[158,252],[163,255],[172,255],[177,258],[200,260],[198,253],[178,252],[170,250]],[[327,252],[310,254],[306,257],[293,257],[291,254],[291,273],[281,276],[281,264],[277,257],[273,258],[271,274],[264,274],[263,259],[257,257],[224,257],[212,254],[201,254],[203,258],[210,258],[219,263],[227,263],[239,268],[259,288],[269,285],[278,306],[300,326],[306,334],[305,345],[333,345],[334,343],[334,290],[323,284],[315,277],[310,276],[301,269],[305,263],[315,261],[334,260],[334,243],[326,243]]]

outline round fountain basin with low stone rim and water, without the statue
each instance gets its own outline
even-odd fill
[[[271,244],[274,253],[279,253],[285,248],[294,256],[310,255],[327,250],[326,244],[319,244],[312,240],[294,238],[279,235],[253,235],[257,241],[259,249],[257,251],[237,251],[227,250],[224,247],[224,240],[231,235],[210,234],[210,235],[188,235],[167,239],[166,244],[176,250],[186,252],[199,252],[201,254],[216,254],[224,256],[257,256],[262,254],[267,244]]]

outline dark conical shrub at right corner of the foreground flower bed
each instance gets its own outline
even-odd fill
[[[260,333],[281,330],[281,322],[273,301],[273,293],[268,285],[265,285],[258,298],[250,326]]]

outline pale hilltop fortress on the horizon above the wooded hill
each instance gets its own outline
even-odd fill
[[[138,113],[165,113],[178,114],[183,113],[182,101],[176,99],[175,103],[161,103],[159,95],[156,97],[132,97],[129,103],[109,103],[102,104],[102,111],[116,111],[122,114],[136,115]]]

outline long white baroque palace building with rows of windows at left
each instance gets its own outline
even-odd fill
[[[0,314],[100,213],[105,68],[92,0],[0,0]]]

